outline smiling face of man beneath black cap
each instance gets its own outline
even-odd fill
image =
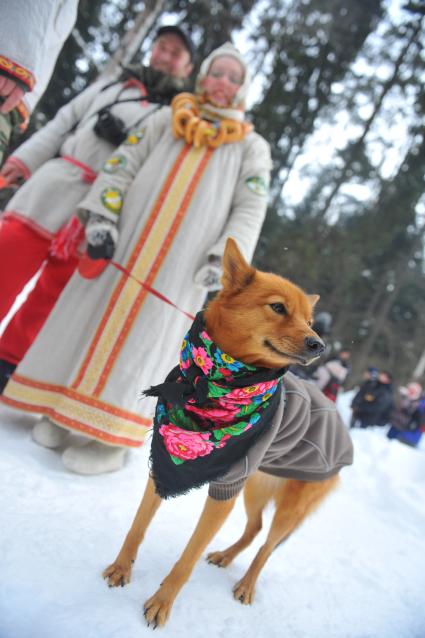
[[[150,66],[176,78],[187,78],[192,71],[190,53],[175,33],[163,33],[152,46]]]

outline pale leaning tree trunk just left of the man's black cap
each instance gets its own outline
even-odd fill
[[[139,50],[158,16],[164,11],[167,0],[147,0],[144,10],[138,15],[134,26],[127,31],[120,46],[102,71],[102,76],[113,75],[119,66],[125,66]]]

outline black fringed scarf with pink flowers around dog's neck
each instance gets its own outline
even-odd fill
[[[270,423],[285,371],[236,361],[212,341],[198,313],[180,364],[144,393],[159,397],[150,456],[157,493],[184,494],[245,456]]]

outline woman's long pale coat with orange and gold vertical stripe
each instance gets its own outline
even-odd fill
[[[222,255],[232,236],[252,258],[270,168],[258,134],[194,149],[173,137],[166,107],[117,150],[81,208],[116,219],[122,204],[114,260],[194,314],[206,292],[193,277],[208,254]],[[139,446],[154,407],[141,392],[176,365],[189,325],[113,265],[97,279],[76,273],[3,401],[112,445]]]

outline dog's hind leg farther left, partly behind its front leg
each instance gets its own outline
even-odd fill
[[[263,522],[263,510],[273,497],[277,487],[282,484],[282,479],[256,472],[245,483],[244,502],[247,522],[240,539],[221,552],[208,554],[207,561],[218,567],[227,567],[232,560],[252,543],[261,531]]]

